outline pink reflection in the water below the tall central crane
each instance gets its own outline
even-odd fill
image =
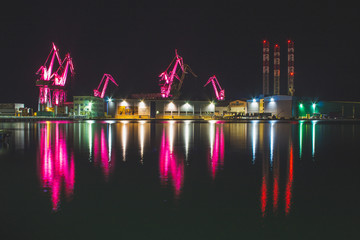
[[[174,152],[174,123],[168,125],[168,136],[163,129],[160,145],[159,168],[161,185],[166,186],[169,181],[172,182],[175,198],[178,198],[184,183],[184,161]]]

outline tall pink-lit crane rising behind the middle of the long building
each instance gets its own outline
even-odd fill
[[[170,66],[172,65],[172,63],[175,61],[173,69],[168,72]],[[167,67],[167,69],[165,70],[165,72],[162,72],[159,77],[160,77],[160,81],[159,81],[159,85],[160,85],[160,92],[161,92],[161,97],[162,98],[169,98],[171,97],[171,87],[174,81],[174,77],[177,78],[180,81],[179,76],[176,74],[176,70],[177,67],[180,66],[181,70],[184,72],[184,64],[183,64],[183,59],[182,57],[180,57],[177,54],[177,50],[175,49],[175,57],[174,59],[171,61],[170,65]]]

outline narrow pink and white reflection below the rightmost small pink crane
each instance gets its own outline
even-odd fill
[[[209,131],[210,131],[209,132],[210,158],[208,165],[211,172],[211,176],[213,179],[215,179],[216,172],[219,170],[219,168],[222,168],[224,165],[225,141],[224,141],[223,124],[210,123]]]

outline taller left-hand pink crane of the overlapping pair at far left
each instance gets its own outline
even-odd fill
[[[58,60],[59,66],[61,66],[61,59],[59,56],[59,50],[56,48],[55,44],[52,43],[52,48],[49,56],[47,57],[44,65],[42,65],[39,70],[36,72],[37,75],[40,75],[40,78],[36,81],[36,86],[39,87],[39,109],[40,106],[51,107],[51,80],[54,77],[54,73],[52,72],[54,66],[55,55]],[[49,65],[47,63],[51,56],[51,60]]]

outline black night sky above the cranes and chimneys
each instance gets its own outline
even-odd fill
[[[120,84],[109,84],[115,97],[159,92],[175,48],[199,76],[185,78],[184,96],[211,95],[202,86],[216,74],[227,99],[250,98],[262,92],[263,39],[271,53],[280,44],[282,94],[291,39],[297,96],[360,101],[359,10],[343,1],[11,1],[0,9],[0,102],[36,106],[51,42],[73,58],[70,101],[92,94],[104,73]]]

